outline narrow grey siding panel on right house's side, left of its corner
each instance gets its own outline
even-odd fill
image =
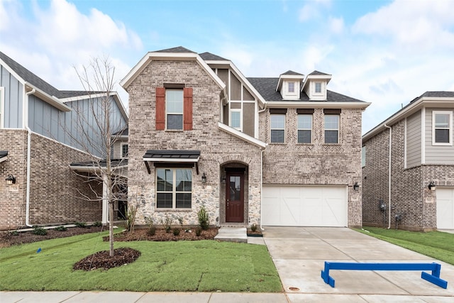
[[[406,119],[406,167],[421,165],[421,111]]]

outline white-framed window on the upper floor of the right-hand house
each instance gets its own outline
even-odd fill
[[[432,112],[432,144],[453,145],[453,112]]]

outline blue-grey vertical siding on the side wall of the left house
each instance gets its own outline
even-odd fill
[[[94,102],[100,101],[99,98],[93,100]],[[105,157],[105,155],[101,154],[102,150],[100,148],[103,146],[101,133],[99,129],[96,130],[96,122],[90,102],[89,99],[66,102],[74,110],[65,112],[56,109],[38,97],[30,96],[28,98],[29,127],[34,133],[79,150],[88,151],[92,155]],[[121,111],[113,99],[111,104],[111,128],[112,132],[116,133],[126,126],[126,120],[121,116]],[[102,111],[100,107],[98,108],[99,114],[101,114]],[[83,115],[82,118],[78,118],[78,112]],[[93,126],[92,128],[86,128],[89,139],[82,133],[80,123]]]

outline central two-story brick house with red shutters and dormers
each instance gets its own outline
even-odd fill
[[[217,226],[362,226],[369,103],[329,91],[330,79],[246,78],[230,60],[182,47],[146,54],[121,81],[135,223],[198,224],[204,205]]]

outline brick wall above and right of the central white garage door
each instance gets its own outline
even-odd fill
[[[313,114],[312,143],[297,143],[297,110],[288,109],[285,143],[270,143],[263,184],[348,186],[348,226],[362,226],[361,109],[342,109],[339,144],[324,143],[323,109]],[[260,115],[260,140],[270,142],[270,112]],[[279,173],[276,173],[279,172]],[[358,182],[359,191],[353,190]]]

